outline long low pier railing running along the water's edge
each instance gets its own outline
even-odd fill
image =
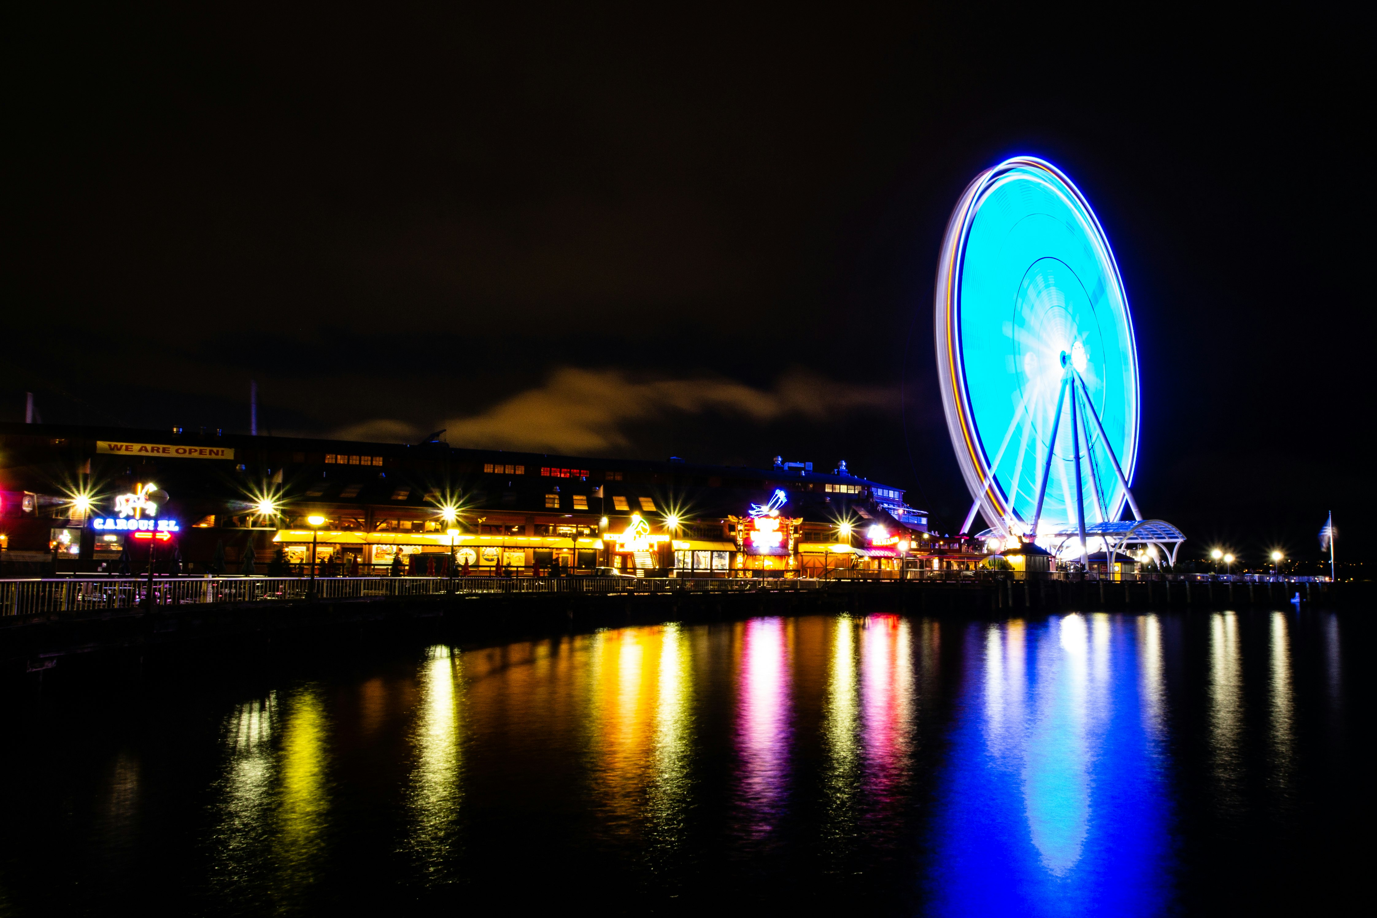
[[[0,617],[102,614],[197,604],[405,600],[493,593],[739,593],[828,590],[854,582],[991,586],[1023,581],[1304,584],[1319,577],[1208,574],[1096,574],[1023,571],[829,571],[825,578],[650,578],[650,577],[61,577],[0,581]]]

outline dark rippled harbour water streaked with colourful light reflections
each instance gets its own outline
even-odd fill
[[[15,688],[0,912],[1358,911],[1373,650],[819,615]]]

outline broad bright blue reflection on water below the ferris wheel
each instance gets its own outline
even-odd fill
[[[1164,907],[1161,662],[1133,640],[1151,628],[1107,615],[969,628],[929,877],[938,911]]]

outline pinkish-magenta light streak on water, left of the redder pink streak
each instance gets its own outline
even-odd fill
[[[784,815],[789,758],[789,668],[785,622],[753,618],[742,636],[739,716],[739,829],[764,837]]]

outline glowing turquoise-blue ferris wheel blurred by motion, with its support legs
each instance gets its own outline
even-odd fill
[[[942,405],[987,535],[1077,553],[1184,538],[1143,520],[1133,319],[1108,238],[1051,162],[1005,160],[978,175],[947,223],[936,284]],[[1125,502],[1135,522],[1120,522]],[[1165,527],[1165,529],[1164,529]]]

